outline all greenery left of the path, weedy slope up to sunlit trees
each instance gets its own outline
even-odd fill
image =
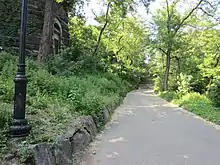
[[[12,8],[12,3],[0,2]],[[106,2],[109,9],[96,17],[97,25],[87,25],[83,14],[76,14],[74,7],[83,6],[82,2],[59,1],[71,12],[70,45],[63,47],[58,54],[48,55],[41,63],[36,63],[35,57],[26,58],[27,119],[33,129],[31,135],[17,146],[11,146],[7,135],[18,59],[12,51],[13,45],[2,45],[7,53],[0,53],[0,158],[4,155],[2,153],[18,150],[16,154],[25,161],[29,144],[53,141],[80,115],[91,115],[97,127],[101,128],[103,109],[115,108],[126,93],[146,77],[144,60],[149,32],[139,20],[127,15],[134,1]],[[13,20],[5,22],[8,28],[1,28],[1,34],[18,37],[20,13],[15,13],[18,15],[11,15]],[[10,12],[7,14],[10,15]],[[4,22],[4,18],[0,22]],[[35,26],[30,21],[29,31],[29,26]],[[11,42],[6,42],[5,38],[1,38],[1,41]]]

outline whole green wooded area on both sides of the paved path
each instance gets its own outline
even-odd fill
[[[29,14],[35,14],[28,32],[39,41],[37,56],[27,52],[27,113],[34,126],[28,144],[54,140],[77,115],[92,115],[101,126],[100,109],[117,104],[150,79],[154,91],[168,101],[220,123],[220,2],[158,1],[102,1],[96,25],[87,24],[83,11],[89,1],[42,1],[44,12],[30,1]],[[156,2],[159,6],[152,12]],[[19,36],[19,7],[18,1],[0,0],[0,104],[4,107],[0,151],[4,154],[9,147],[6,132],[17,59],[12,43],[18,42],[14,38]],[[144,16],[138,13],[140,7]],[[146,19],[149,15],[152,19]],[[38,23],[35,17],[44,21]],[[32,33],[36,27],[40,28]]]

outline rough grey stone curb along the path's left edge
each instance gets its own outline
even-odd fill
[[[103,109],[98,118],[106,124],[114,110],[121,104]],[[76,118],[68,128],[66,134],[57,136],[54,143],[40,143],[31,146],[32,157],[25,165],[73,165],[75,154],[83,151],[95,139],[99,126],[91,116]],[[22,165],[18,158],[12,158],[4,165]]]

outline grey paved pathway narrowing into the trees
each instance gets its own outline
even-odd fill
[[[220,165],[220,130],[137,90],[90,150],[83,165]]]

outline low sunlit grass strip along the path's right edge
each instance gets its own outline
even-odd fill
[[[177,92],[163,92],[159,95],[169,102],[220,125],[220,109],[216,108],[213,102],[205,95],[199,93],[180,95]]]

